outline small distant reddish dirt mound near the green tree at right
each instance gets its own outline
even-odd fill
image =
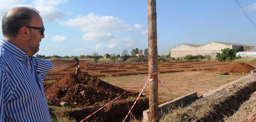
[[[241,63],[241,62],[233,62],[227,66],[217,68],[217,69],[212,69],[212,71],[229,73],[229,74],[244,74],[244,73],[251,72],[254,69],[255,68],[253,66],[250,66],[249,64]]]

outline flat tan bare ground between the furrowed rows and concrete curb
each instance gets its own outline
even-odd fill
[[[202,95],[243,76],[245,75],[221,75],[209,71],[159,74],[158,79],[164,81],[164,85],[158,87],[159,104],[166,103],[193,91],[196,91],[198,95]],[[145,84],[145,81],[142,81],[144,77],[146,75],[101,77],[100,79],[126,90],[140,92]],[[144,95],[148,95],[148,88],[147,85],[143,91]]]

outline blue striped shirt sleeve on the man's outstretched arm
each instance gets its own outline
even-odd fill
[[[42,80],[48,76],[52,70],[52,62],[50,60],[45,60],[41,58],[33,57],[34,65],[36,66],[36,71],[41,74]]]

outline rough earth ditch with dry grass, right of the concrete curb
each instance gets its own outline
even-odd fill
[[[217,91],[208,97],[201,97],[186,103],[176,110],[178,120],[188,122],[224,122],[231,117],[248,97],[256,91],[256,74]],[[241,118],[242,119],[242,118]]]

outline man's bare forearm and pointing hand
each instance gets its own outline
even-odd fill
[[[79,67],[86,68],[86,63],[89,62],[91,59],[79,59],[80,63],[78,64]],[[51,59],[52,61],[52,70],[50,74],[61,72],[68,68],[74,67],[76,65],[76,60],[74,59]]]

